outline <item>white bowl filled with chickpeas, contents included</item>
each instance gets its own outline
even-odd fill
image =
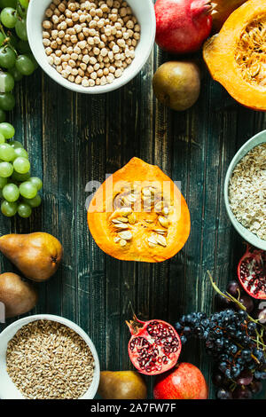
[[[27,36],[44,72],[69,90],[100,94],[129,83],[153,50],[152,0],[31,0]]]

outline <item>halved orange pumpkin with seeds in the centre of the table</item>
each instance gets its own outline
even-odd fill
[[[106,254],[123,261],[161,262],[184,247],[189,209],[160,168],[132,158],[90,201],[90,232]]]

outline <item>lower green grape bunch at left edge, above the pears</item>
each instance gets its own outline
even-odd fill
[[[31,177],[28,153],[22,144],[12,140],[15,130],[12,124],[0,123],[0,197],[4,216],[29,217],[41,204],[38,193],[43,182]]]

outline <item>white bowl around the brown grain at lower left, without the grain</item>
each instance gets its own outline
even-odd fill
[[[95,397],[98,390],[99,376],[100,376],[100,367],[98,361],[98,354],[95,349],[93,342],[91,342],[90,337],[86,334],[81,327],[74,324],[73,321],[64,319],[63,317],[53,316],[51,314],[37,314],[35,316],[29,316],[24,319],[20,319],[12,323],[12,325],[6,327],[4,331],[0,334],[0,398],[1,399],[23,399],[24,397],[20,393],[19,389],[12,382],[9,374],[6,372],[6,349],[8,342],[12,339],[14,334],[20,330],[21,327],[26,326],[31,321],[35,320],[51,320],[57,321],[67,327],[70,327],[74,332],[79,334],[82,339],[90,347],[91,353],[95,361],[95,369],[93,380],[91,382],[90,388],[80,399],[92,399]]]

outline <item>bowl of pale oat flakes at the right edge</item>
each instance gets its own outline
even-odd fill
[[[235,154],[224,182],[231,224],[255,248],[266,250],[266,130]]]

